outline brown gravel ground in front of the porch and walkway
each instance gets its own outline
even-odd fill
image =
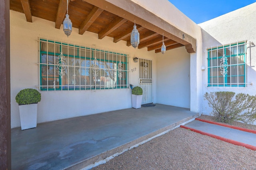
[[[256,125],[232,125],[256,130]],[[92,170],[256,170],[256,151],[179,127]]]

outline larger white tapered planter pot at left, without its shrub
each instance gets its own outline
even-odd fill
[[[37,104],[19,105],[21,130],[36,127]]]

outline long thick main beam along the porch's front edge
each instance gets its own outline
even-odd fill
[[[188,45],[187,51],[196,52],[196,39],[190,35],[184,33],[174,25],[158,17],[156,14],[146,10],[144,7],[136,4],[132,0],[83,0],[98,6],[112,14],[125,18],[129,21],[136,20],[136,23],[142,27],[152,30],[160,35],[164,33],[164,36],[169,39]],[[191,45],[189,45],[191,44]]]

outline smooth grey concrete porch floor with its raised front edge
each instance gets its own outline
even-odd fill
[[[198,116],[186,108],[156,104],[40,123],[23,131],[14,128],[12,170],[88,169]]]

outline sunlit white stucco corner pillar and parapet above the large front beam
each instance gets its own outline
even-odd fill
[[[196,39],[196,53],[190,54],[190,110],[194,112],[201,112],[202,108],[202,32],[201,28],[194,23],[185,14],[180,12],[168,0],[158,0],[157,3],[153,0],[131,0],[140,6],[143,6],[148,11],[156,16],[167,21],[171,25],[187,33]],[[167,28],[168,30],[168,28]],[[170,30],[168,30],[170,31]],[[157,64],[158,68],[161,64]],[[169,68],[171,71],[171,68]],[[165,70],[166,71],[166,70]],[[164,72],[158,72],[158,75]],[[160,80],[158,82],[165,81]]]

